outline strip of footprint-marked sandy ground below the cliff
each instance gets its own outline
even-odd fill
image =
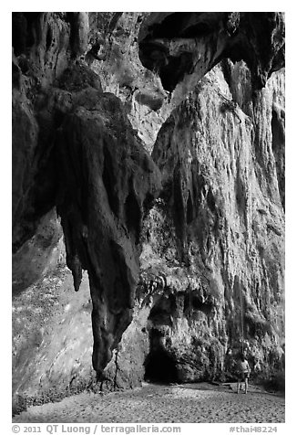
[[[250,388],[148,385],[104,396],[81,393],[28,408],[13,422],[40,423],[282,423],[284,397]]]

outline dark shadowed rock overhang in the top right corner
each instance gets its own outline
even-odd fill
[[[152,13],[139,32],[139,57],[159,72],[167,90],[197,81],[222,58],[245,60],[254,88],[284,65],[284,14]]]

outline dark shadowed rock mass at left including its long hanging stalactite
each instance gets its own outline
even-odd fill
[[[158,193],[159,171],[117,97],[103,94],[95,72],[70,61],[87,51],[88,17],[16,18],[16,54],[23,59],[28,44],[33,54],[26,58],[28,78],[14,58],[14,247],[57,207],[75,290],[82,269],[88,271],[100,372],[131,321],[141,220]]]

